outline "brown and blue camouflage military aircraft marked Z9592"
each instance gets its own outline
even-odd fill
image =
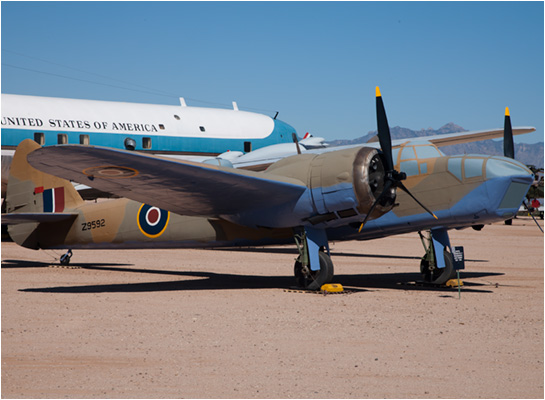
[[[428,231],[421,272],[445,283],[454,272],[449,229],[479,229],[518,211],[533,175],[514,160],[512,136],[535,129],[512,129],[507,112],[503,131],[458,134],[458,141],[502,134],[506,157],[447,157],[429,138],[393,145],[378,88],[377,123],[378,144],[309,151],[263,172],[94,146],[41,148],[25,140],[13,160],[2,222],[10,224],[15,242],[31,249],[252,246],[295,239],[295,276],[309,289],[333,278],[330,240]],[[68,180],[123,198],[85,203]]]

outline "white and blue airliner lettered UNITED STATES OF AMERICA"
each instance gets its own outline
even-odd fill
[[[292,143],[295,129],[264,114],[233,109],[2,94],[2,193],[17,145],[83,144],[172,156]]]

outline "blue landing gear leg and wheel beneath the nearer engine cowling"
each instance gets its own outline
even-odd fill
[[[329,257],[325,231],[306,228],[295,235],[299,257],[293,272],[297,286],[308,290],[319,290],[333,279],[333,262]]]

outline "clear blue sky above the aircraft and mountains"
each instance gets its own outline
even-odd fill
[[[543,141],[543,2],[2,2],[2,93],[225,106],[300,135],[514,126]]]

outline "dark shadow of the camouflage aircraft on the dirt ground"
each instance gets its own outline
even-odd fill
[[[262,275],[237,275],[229,273],[213,273],[202,271],[169,271],[123,268],[118,265],[107,264],[74,264],[88,270],[110,271],[150,275],[170,275],[180,278],[173,281],[143,282],[143,283],[119,283],[85,286],[57,286],[45,288],[20,289],[22,292],[42,293],[137,293],[137,292],[164,292],[164,291],[198,291],[198,290],[242,290],[242,289],[296,289],[295,279],[291,276],[262,276]],[[503,275],[500,273],[462,272],[460,277],[464,279],[483,278]],[[197,279],[195,279],[197,278]],[[200,279],[198,279],[200,278]],[[451,292],[455,289],[414,284],[421,279],[418,273],[383,273],[383,274],[357,274],[335,275],[335,283],[342,284],[346,290],[354,292],[372,291],[376,289],[394,290],[428,290],[439,292]],[[464,283],[464,292],[491,293],[492,284],[473,282]]]

